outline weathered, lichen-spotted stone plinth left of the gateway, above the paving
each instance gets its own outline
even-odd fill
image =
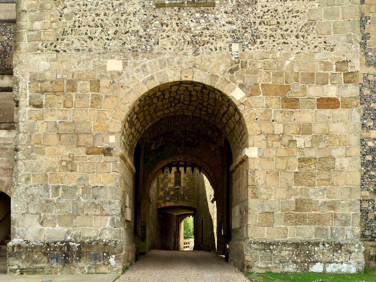
[[[135,261],[135,244],[123,241],[23,241],[7,248],[8,274],[121,273]]]

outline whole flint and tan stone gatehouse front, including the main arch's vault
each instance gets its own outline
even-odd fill
[[[205,171],[214,247],[236,267],[375,265],[373,3],[15,9],[15,28],[0,26],[16,105],[6,121],[16,137],[0,135],[14,140],[4,143],[13,179],[0,182],[11,196],[8,274],[121,273],[151,249],[150,191],[173,162]]]

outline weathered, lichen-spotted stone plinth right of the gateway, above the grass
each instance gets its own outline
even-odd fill
[[[230,262],[253,272],[362,273],[364,246],[347,241],[232,240]],[[244,264],[242,264],[244,261]]]

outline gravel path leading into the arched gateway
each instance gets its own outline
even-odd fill
[[[116,282],[250,282],[223,256],[203,251],[152,250]]]

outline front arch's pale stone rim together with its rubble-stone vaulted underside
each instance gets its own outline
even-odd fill
[[[217,112],[207,111],[206,113],[197,114],[195,107],[198,106],[197,101],[187,102],[184,98],[171,99],[172,105],[169,105],[170,111],[165,108],[160,109],[156,104],[162,102],[164,96],[159,99],[152,97],[159,91],[168,91],[177,84],[190,84],[205,88],[205,91],[214,93],[212,97],[206,92],[205,97],[211,97],[215,100],[212,108],[215,108],[217,103]],[[175,92],[175,91],[173,91]],[[171,96],[172,97],[172,96]],[[170,98],[171,98],[170,97]],[[181,98],[181,94],[179,94]],[[188,97],[185,93],[183,97]],[[147,101],[152,101],[147,105],[146,111],[143,114],[139,113],[141,108],[145,108]],[[201,99],[200,99],[201,101]],[[203,101],[208,102],[208,101]],[[152,105],[155,104],[155,105]],[[184,109],[182,106],[185,104]],[[165,105],[164,105],[165,106]],[[178,110],[180,106],[180,111]],[[202,105],[204,106],[204,105]],[[209,106],[210,107],[210,106]],[[158,109],[156,109],[158,108]],[[228,111],[227,111],[228,110]],[[206,116],[214,123],[221,124],[221,131],[228,137],[231,149],[236,155],[240,155],[242,150],[249,146],[248,144],[248,128],[252,129],[252,134],[260,134],[260,124],[257,119],[257,114],[252,108],[250,101],[245,96],[244,92],[230,80],[225,79],[222,75],[206,71],[200,68],[169,68],[155,72],[145,79],[134,83],[115,107],[115,111],[109,121],[109,132],[118,132],[121,130],[123,133],[122,144],[130,159],[133,159],[133,150],[135,143],[138,141],[143,130],[147,129],[155,122],[156,118],[163,116],[176,115],[176,114],[190,114]],[[227,114],[227,115],[226,115]],[[149,116],[149,120],[147,117]],[[143,120],[138,120],[138,118]],[[252,123],[252,125],[250,124]],[[238,124],[238,126],[237,126]],[[133,128],[135,126],[135,128]],[[120,129],[121,128],[121,129]]]

